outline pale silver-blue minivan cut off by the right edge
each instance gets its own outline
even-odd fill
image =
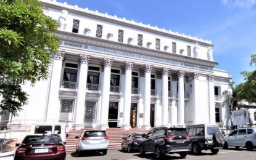
[[[225,137],[223,148],[226,149],[229,146],[235,146],[236,149],[244,146],[247,150],[254,150],[256,148],[256,128],[248,127],[234,130]]]

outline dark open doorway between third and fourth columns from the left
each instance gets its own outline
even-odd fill
[[[117,127],[118,102],[109,102],[109,127]]]

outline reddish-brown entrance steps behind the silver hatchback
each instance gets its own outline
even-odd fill
[[[68,137],[66,138],[66,142],[67,142],[66,150],[68,152],[75,152],[75,146],[78,141],[78,139],[76,139],[75,136],[80,135],[82,130],[87,130],[87,129],[69,130],[67,132]],[[109,128],[106,130],[106,132],[107,132],[107,136],[109,137],[109,150],[120,150],[123,137],[125,137],[130,133],[135,133],[135,132],[147,134],[149,130],[137,129],[137,128],[132,128],[129,130],[125,130],[121,128]]]

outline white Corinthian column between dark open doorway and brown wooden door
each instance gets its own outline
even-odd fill
[[[133,62],[125,62],[125,105],[123,108],[123,124],[122,128],[130,129],[130,114],[131,114],[131,70]]]

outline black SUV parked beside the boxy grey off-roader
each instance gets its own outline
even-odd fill
[[[186,129],[179,127],[156,127],[142,138],[139,143],[139,154],[155,153],[157,159],[162,159],[167,153],[178,153],[185,158],[191,150],[191,142]]]

